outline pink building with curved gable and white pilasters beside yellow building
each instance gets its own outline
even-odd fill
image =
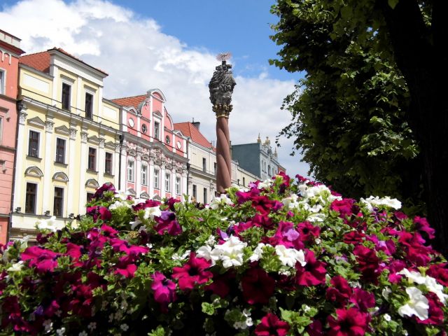
[[[174,130],[165,95],[155,89],[112,102],[123,106],[118,188],[137,198],[181,200],[187,193],[187,138]]]

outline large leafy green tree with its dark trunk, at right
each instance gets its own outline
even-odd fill
[[[278,0],[276,66],[306,71],[284,107],[317,179],[426,202],[448,254],[447,1]],[[422,188],[423,187],[423,188]],[[421,193],[423,190],[423,193]]]

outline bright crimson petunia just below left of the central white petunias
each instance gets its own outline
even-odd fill
[[[190,253],[190,259],[183,267],[174,267],[174,279],[178,279],[181,290],[193,289],[195,285],[201,285],[211,279],[213,273],[205,269],[211,266],[211,262],[204,258],[196,258],[196,253]]]

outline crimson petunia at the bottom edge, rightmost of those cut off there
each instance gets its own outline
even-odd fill
[[[363,336],[367,331],[370,315],[356,308],[336,309],[337,318],[328,316],[329,336]]]

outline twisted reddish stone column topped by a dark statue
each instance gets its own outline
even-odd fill
[[[212,110],[216,114],[216,191],[225,193],[232,183],[232,158],[230,156],[229,116],[232,111],[232,93],[237,83],[233,78],[232,65],[225,61],[230,52],[219,54],[216,58],[222,64],[216,70],[209,83]]]

